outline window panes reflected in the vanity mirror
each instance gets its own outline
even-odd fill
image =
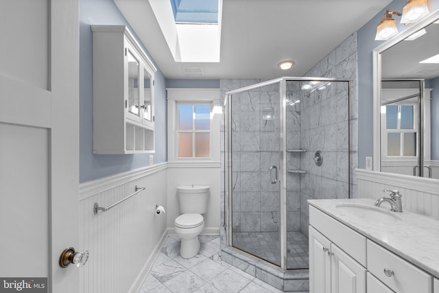
[[[390,104],[384,107],[387,156],[417,156],[416,107],[413,104]]]

